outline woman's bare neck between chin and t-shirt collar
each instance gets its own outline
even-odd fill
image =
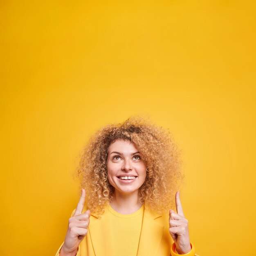
[[[138,200],[138,191],[134,193],[120,193],[115,191],[114,198],[110,202],[110,206],[121,214],[131,214],[138,211],[142,204]]]

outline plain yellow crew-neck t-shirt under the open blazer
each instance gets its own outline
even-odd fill
[[[108,204],[110,222],[106,233],[115,241],[111,256],[136,256],[144,214],[144,204],[131,214],[121,214]],[[104,231],[103,231],[104,232]]]

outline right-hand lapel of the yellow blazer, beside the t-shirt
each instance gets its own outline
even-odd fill
[[[157,255],[164,226],[155,219],[161,216],[145,207],[137,256]]]

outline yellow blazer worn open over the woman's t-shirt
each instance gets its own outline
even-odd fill
[[[86,208],[84,207],[82,212],[85,211]],[[74,212],[75,209],[71,216],[74,215]],[[97,214],[91,213],[88,234],[80,243],[76,256],[111,256],[114,243],[108,234],[101,232],[101,230],[106,230],[108,227],[108,216],[104,214],[97,216]],[[145,207],[137,256],[179,255],[173,251],[171,254],[171,245],[174,242],[169,233],[168,220],[168,215],[155,213]],[[59,255],[61,247],[58,249],[56,256]],[[194,253],[183,255],[198,256]]]

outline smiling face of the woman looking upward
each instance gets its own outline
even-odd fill
[[[123,139],[112,143],[108,148],[108,180],[115,193],[137,193],[145,179],[146,165],[135,145]]]

